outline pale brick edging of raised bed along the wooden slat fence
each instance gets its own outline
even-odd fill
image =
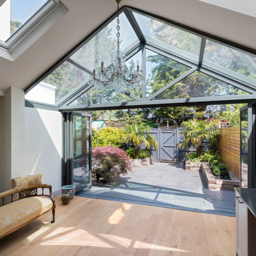
[[[201,172],[204,176],[204,181],[208,189],[216,189],[216,190],[234,190],[234,187],[240,186],[239,179],[233,175],[232,172],[230,173],[230,180],[223,180],[218,179],[215,177],[210,169],[208,163],[201,163]]]

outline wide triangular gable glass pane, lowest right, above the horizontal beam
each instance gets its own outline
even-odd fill
[[[199,71],[182,79],[163,93],[157,95],[155,99],[181,99],[209,96],[227,96],[249,94],[244,90],[227,84],[223,81],[208,76]]]

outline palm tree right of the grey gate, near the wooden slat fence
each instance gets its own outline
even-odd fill
[[[216,129],[218,122],[214,121],[203,121],[198,119],[189,119],[181,123],[184,128],[180,131],[183,134],[184,141],[181,142],[178,147],[189,149],[189,144],[195,146],[196,156],[199,157],[202,154],[202,140],[209,140],[212,144],[214,143],[220,131]]]

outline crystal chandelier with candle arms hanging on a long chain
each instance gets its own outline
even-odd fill
[[[139,87],[145,81],[140,63],[137,61],[137,70],[130,73],[129,68],[125,65],[125,53],[120,50],[120,26],[119,26],[119,3],[121,0],[116,0],[117,3],[117,48],[111,54],[111,65],[104,67],[102,61],[101,67],[93,70],[93,75],[89,81],[98,90],[115,90],[117,93],[124,91],[132,91],[134,88]]]

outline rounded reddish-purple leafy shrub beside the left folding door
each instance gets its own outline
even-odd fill
[[[92,175],[98,182],[109,182],[117,179],[121,174],[131,172],[129,157],[121,148],[112,146],[96,147],[93,148],[92,155]]]

